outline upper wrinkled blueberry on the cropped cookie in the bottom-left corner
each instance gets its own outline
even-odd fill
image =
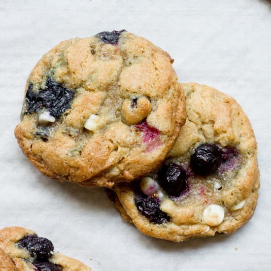
[[[19,246],[25,247],[29,251],[30,255],[37,261],[46,261],[54,251],[52,242],[44,237],[27,235],[18,243]]]

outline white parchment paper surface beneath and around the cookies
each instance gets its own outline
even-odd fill
[[[19,149],[13,130],[35,63],[61,40],[120,29],[168,51],[181,82],[232,95],[248,114],[261,189],[254,217],[236,234],[179,244],[146,237],[103,189],[46,178]],[[0,0],[0,228],[33,229],[94,271],[271,270],[270,134],[268,0]]]

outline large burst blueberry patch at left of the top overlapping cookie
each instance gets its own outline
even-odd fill
[[[52,116],[58,118],[70,107],[73,96],[74,93],[72,90],[62,87],[48,77],[45,89],[40,89],[37,92],[34,92],[33,85],[29,84],[26,93],[26,113],[46,108]]]

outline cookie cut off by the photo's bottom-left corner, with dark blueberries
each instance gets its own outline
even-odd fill
[[[38,237],[33,231],[21,227],[9,227],[0,230],[0,260],[6,271],[91,271],[83,263],[54,253],[50,240]],[[12,259],[12,260],[11,260]],[[15,268],[16,266],[16,268]]]

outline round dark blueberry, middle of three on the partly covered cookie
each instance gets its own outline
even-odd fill
[[[164,165],[158,175],[160,185],[171,196],[179,196],[186,187],[187,174],[180,165]]]

